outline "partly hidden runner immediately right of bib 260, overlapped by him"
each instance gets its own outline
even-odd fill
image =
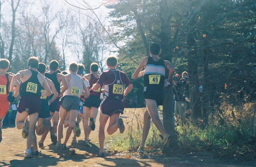
[[[44,73],[46,72],[46,65],[42,62],[39,63],[37,71],[40,72],[43,77],[44,77]],[[54,83],[52,82],[52,80],[50,80],[47,77],[44,77],[47,81],[48,86],[50,87],[50,90],[52,91],[52,93],[54,94],[52,96],[52,98],[49,98],[49,96],[41,96],[41,113],[38,115],[38,120],[37,120],[37,128],[36,128],[36,134],[37,135],[42,135],[41,140],[38,142],[38,145],[40,148],[43,148],[43,142],[44,139],[46,138],[49,129],[51,127],[51,115],[50,115],[50,106],[49,104],[51,104],[55,99],[57,99],[58,92],[54,87]],[[46,90],[44,90],[42,88],[41,92],[46,92]],[[37,145],[34,146],[35,151],[37,150]],[[35,148],[36,147],[36,148]],[[38,151],[37,151],[38,153]]]

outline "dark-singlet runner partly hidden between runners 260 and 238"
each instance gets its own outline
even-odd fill
[[[59,97],[61,97],[62,94],[65,92],[65,90],[67,90],[67,80],[63,74],[57,72],[59,70],[59,62],[56,60],[52,60],[50,62],[49,70],[50,71],[46,72],[44,75],[50,80],[52,80],[59,94]],[[60,83],[62,83],[63,85],[61,92],[60,92]],[[50,96],[49,98],[52,98],[52,96]],[[56,109],[58,108],[58,101],[59,101],[59,98],[57,98],[50,104],[50,115],[52,116],[52,118]],[[59,113],[56,113],[56,114],[59,114]],[[55,119],[53,119],[53,127],[50,128],[50,137],[54,144],[57,143],[57,126],[58,126],[58,122],[56,122]]]

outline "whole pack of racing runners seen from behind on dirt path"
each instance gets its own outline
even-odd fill
[[[144,114],[144,126],[142,142],[138,153],[144,154],[144,145],[150,128],[150,120],[163,136],[162,152],[166,153],[168,143],[171,139],[163,128],[159,118],[157,106],[162,105],[165,92],[163,86],[171,82],[174,68],[169,61],[159,58],[160,45],[152,43],[149,46],[150,56],[145,57],[134,72],[132,78],[144,76],[144,98],[147,111]],[[36,135],[41,135],[38,142],[43,147],[44,139],[50,131],[50,138],[57,148],[67,149],[66,143],[73,131],[73,138],[81,135],[79,122],[83,120],[84,144],[90,141],[91,130],[95,129],[95,121],[100,106],[99,144],[100,152],[97,157],[104,157],[105,125],[109,119],[107,133],[112,135],[118,129],[120,133],[125,130],[120,114],[124,112],[122,102],[133,88],[130,79],[122,71],[116,69],[117,58],[107,58],[108,71],[98,74],[99,65],[91,64],[90,74],[85,74],[82,64],[71,63],[69,72],[58,72],[58,61],[53,60],[46,72],[46,65],[39,63],[36,57],[28,60],[28,70],[19,71],[12,76],[6,73],[9,61],[0,60],[0,142],[2,140],[2,119],[9,108],[9,102],[13,102],[20,94],[17,106],[16,127],[22,129],[22,137],[26,138],[27,149],[25,158],[38,155]],[[144,70],[143,70],[144,68]],[[165,70],[169,70],[168,79],[165,79]],[[21,79],[21,83],[17,79]],[[13,94],[14,85],[16,91]],[[125,88],[126,85],[126,88]],[[101,93],[105,93],[103,101]],[[52,119],[53,125],[50,120]],[[37,123],[37,126],[36,126]],[[64,143],[63,129],[67,127]],[[31,152],[31,146],[34,151]]]

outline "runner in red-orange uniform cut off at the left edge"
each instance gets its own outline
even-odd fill
[[[8,92],[10,89],[10,81],[13,75],[6,73],[9,69],[10,61],[7,59],[0,60],[0,143],[2,141],[2,120],[5,118],[5,114],[8,112],[10,103],[7,100]],[[12,91],[11,91],[12,92]],[[16,91],[12,102],[19,93],[19,82],[16,82]]]

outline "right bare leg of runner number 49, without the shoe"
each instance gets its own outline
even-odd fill
[[[151,99],[145,99],[145,101],[153,123],[155,124],[156,128],[159,130],[163,138],[165,138],[167,133],[163,127],[162,121],[159,118],[156,101]]]

